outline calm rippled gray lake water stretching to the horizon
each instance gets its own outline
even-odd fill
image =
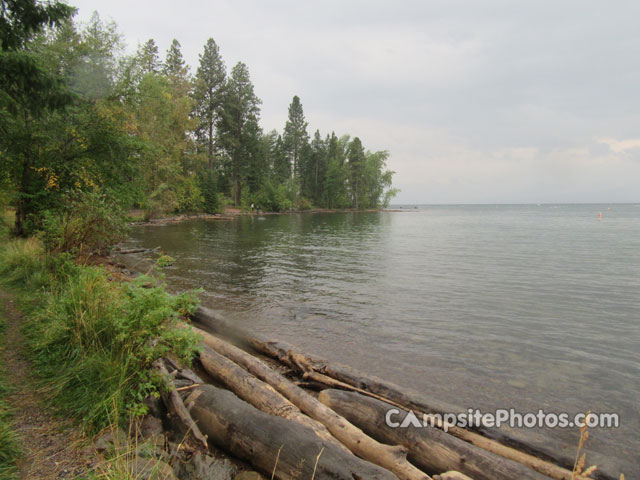
[[[588,458],[640,474],[640,205],[196,220],[131,243],[176,258],[170,285],[241,326],[431,398],[616,412]],[[575,454],[575,431],[525,434]]]

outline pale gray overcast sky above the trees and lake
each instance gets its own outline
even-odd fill
[[[640,202],[640,2],[69,0],[131,51],[213,37],[265,131],[293,95],[391,152],[395,203]]]

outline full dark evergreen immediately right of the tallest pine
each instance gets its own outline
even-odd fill
[[[247,170],[257,161],[255,156],[260,150],[260,103],[262,102],[254,92],[247,66],[238,62],[231,70],[225,87],[218,128],[220,141],[230,160],[229,173],[236,205],[241,204]]]

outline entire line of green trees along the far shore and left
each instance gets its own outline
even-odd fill
[[[212,38],[191,73],[178,40],[125,54],[97,13],[78,25],[61,3],[0,3],[0,202],[19,234],[83,192],[149,217],[378,208],[396,192],[387,151],[310,136],[297,96],[282,132],[264,132],[247,65],[228,70]]]

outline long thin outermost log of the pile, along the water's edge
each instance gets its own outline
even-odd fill
[[[232,338],[234,341],[242,343],[256,352],[276,359],[291,368],[299,369],[303,374],[309,371],[320,373],[326,377],[350,385],[358,391],[369,392],[373,394],[374,398],[384,399],[392,405],[401,405],[403,408],[413,410],[420,414],[443,414],[463,411],[461,408],[452,407],[451,405],[446,405],[433,399],[424,400],[422,396],[417,394],[407,394],[403,389],[391,382],[367,375],[348,366],[329,363],[313,355],[295,353],[294,348],[287,343],[267,341],[250,336],[242,329],[237,328],[209,309],[197,309],[192,319],[208,332],[214,332]],[[572,472],[567,468],[563,468],[556,463],[536,456],[541,455],[547,458],[554,458],[550,452],[531,448],[529,445],[500,433],[497,429],[483,431],[483,434],[480,434],[464,428],[449,426],[448,434],[487,450],[488,452],[521,463],[555,480],[573,479]],[[492,438],[488,438],[485,434],[490,435]],[[508,446],[505,443],[512,446]],[[567,461],[569,461],[569,463],[572,461],[565,458],[554,458],[554,460],[567,465]]]

